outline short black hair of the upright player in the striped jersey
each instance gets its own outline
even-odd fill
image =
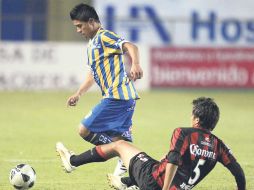
[[[88,22],[90,18],[94,19],[96,22],[100,22],[99,16],[95,9],[90,5],[81,3],[76,5],[70,11],[71,20],[79,20],[83,22]]]

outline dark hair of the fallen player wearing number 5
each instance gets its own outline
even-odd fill
[[[192,114],[199,118],[200,127],[213,130],[219,120],[220,110],[211,98],[200,97],[192,102]]]

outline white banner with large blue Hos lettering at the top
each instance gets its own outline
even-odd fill
[[[253,46],[253,0],[95,0],[105,28],[153,46]]]

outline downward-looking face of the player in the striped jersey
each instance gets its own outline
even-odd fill
[[[80,33],[86,39],[92,39],[94,35],[93,26],[90,22],[83,22],[79,20],[73,20],[73,25],[76,26],[77,33]]]

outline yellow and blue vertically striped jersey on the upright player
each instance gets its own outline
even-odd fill
[[[88,65],[104,98],[138,99],[133,81],[127,77],[122,44],[124,39],[100,28],[87,48]]]

